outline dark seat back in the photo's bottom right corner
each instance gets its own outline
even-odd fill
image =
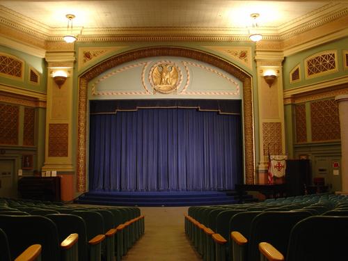
[[[310,216],[290,234],[287,261],[347,260],[348,216]]]

